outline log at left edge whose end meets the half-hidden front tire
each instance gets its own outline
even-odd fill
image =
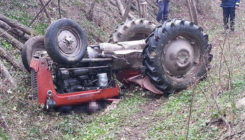
[[[2,28],[0,28],[0,37],[3,37],[5,40],[10,42],[12,45],[14,45],[19,50],[22,50],[22,48],[24,46],[19,40],[15,39],[12,35],[7,33]]]

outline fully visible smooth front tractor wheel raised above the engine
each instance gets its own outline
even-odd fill
[[[49,56],[61,65],[80,62],[87,51],[85,33],[70,19],[60,19],[49,25],[44,43]]]

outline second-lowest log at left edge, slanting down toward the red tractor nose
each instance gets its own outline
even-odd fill
[[[26,71],[22,63],[16,62],[16,59],[12,57],[9,53],[7,53],[2,47],[0,47],[0,57],[6,59],[10,62],[15,68]]]

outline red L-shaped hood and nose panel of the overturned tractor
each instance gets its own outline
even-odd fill
[[[116,85],[114,88],[98,89],[90,91],[81,91],[74,93],[59,94],[54,88],[54,83],[46,59],[40,58],[38,66],[36,67],[36,60],[32,67],[38,68],[37,71],[37,84],[38,84],[38,102],[45,105],[47,92],[52,91],[51,99],[55,101],[56,106],[74,105],[90,102],[93,100],[101,100],[112,98],[119,95],[119,87]]]

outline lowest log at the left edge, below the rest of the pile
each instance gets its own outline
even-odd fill
[[[9,74],[8,69],[3,65],[0,60],[0,90],[3,92],[9,88],[16,88],[16,82],[14,78]]]

